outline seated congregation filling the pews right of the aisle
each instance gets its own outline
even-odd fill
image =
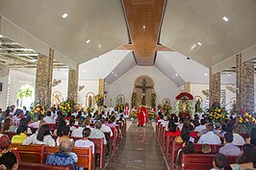
[[[189,115],[184,117],[175,114],[164,116],[162,112],[159,112],[156,120],[158,127],[166,129],[166,135],[174,137],[174,143],[182,144],[174,167],[183,163],[183,154],[195,154],[195,143],[202,145],[201,153],[215,154],[212,170],[223,169],[229,156],[239,157],[236,164],[230,165],[234,170],[253,168],[256,163],[256,128],[252,128],[250,134],[243,138],[235,117],[214,123],[206,114],[202,114],[200,118],[195,114],[192,119]],[[222,145],[218,154],[211,152],[211,145]]]

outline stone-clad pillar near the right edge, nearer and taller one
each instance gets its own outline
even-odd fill
[[[243,63],[242,54],[236,56],[237,73],[237,104],[236,109],[254,111],[254,63]]]

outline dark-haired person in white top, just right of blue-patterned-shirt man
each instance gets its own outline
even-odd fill
[[[85,128],[83,131],[83,138],[75,141],[75,147],[92,148],[92,154],[94,154],[94,143],[89,140],[90,128]]]

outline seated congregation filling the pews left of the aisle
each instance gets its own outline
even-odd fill
[[[113,136],[118,131],[115,129],[115,122],[125,121],[123,115],[117,117],[114,111],[99,113],[96,110],[90,114],[82,109],[64,115],[64,112],[55,108],[47,110],[45,115],[38,114],[37,119],[33,121],[33,117],[25,107],[21,110],[13,106],[0,111],[1,170],[14,170],[18,167],[20,158],[17,152],[9,148],[10,144],[58,146],[59,152],[46,158],[45,164],[71,164],[73,169],[78,169],[76,167],[78,158],[75,153],[71,152],[72,147],[91,147],[92,154],[94,154],[94,143],[90,139],[103,138],[104,145],[106,145],[104,133]],[[8,133],[14,133],[13,137],[10,138]],[[72,137],[80,137],[80,139],[74,141]]]

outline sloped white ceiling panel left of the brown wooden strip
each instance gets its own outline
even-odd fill
[[[128,42],[119,0],[1,0],[0,13],[77,63]],[[65,19],[64,13],[68,14]]]

